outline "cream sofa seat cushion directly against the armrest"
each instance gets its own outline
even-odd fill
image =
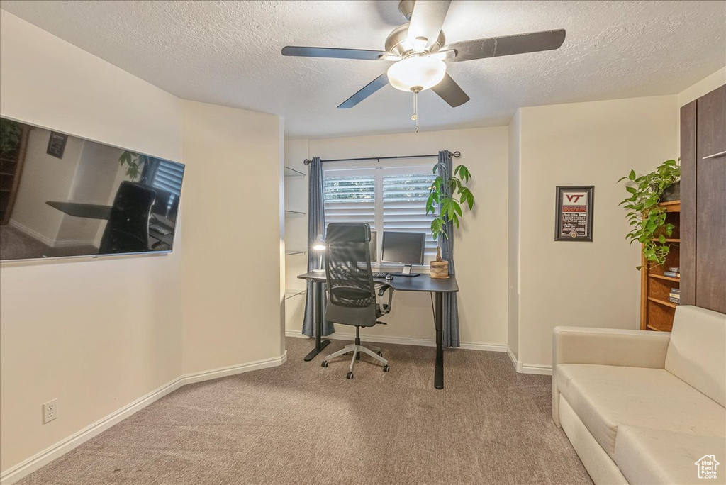
[[[555,378],[560,393],[613,459],[621,425],[726,436],[726,409],[667,370],[560,364]]]

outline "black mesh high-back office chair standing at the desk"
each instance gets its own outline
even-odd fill
[[[388,361],[383,359],[380,349],[361,345],[360,327],[372,327],[378,318],[391,311],[393,288],[383,283],[374,283],[370,268],[370,226],[364,223],[331,223],[327,227],[325,240],[327,253],[325,274],[327,277],[327,310],[325,319],[329,322],[356,327],[356,341],[325,357],[322,367],[328,360],[353,352],[351,367],[346,378],[353,378],[353,365],[360,354],[370,355],[383,364],[383,372],[388,372]],[[388,290],[388,303],[376,301]]]

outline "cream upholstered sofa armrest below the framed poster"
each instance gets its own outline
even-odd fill
[[[555,327],[552,368],[558,364],[600,364],[663,369],[670,338],[669,332]]]

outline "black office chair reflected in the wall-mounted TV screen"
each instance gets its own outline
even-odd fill
[[[99,254],[136,253],[149,250],[149,217],[156,192],[134,182],[118,186]]]

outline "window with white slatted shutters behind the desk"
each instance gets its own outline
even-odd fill
[[[367,222],[378,232],[378,263],[381,231],[425,232],[424,263],[436,257],[431,237],[433,214],[426,213],[428,189],[436,178],[433,164],[421,162],[377,167],[328,162],[324,166],[325,224]],[[350,168],[348,168],[350,167]]]

